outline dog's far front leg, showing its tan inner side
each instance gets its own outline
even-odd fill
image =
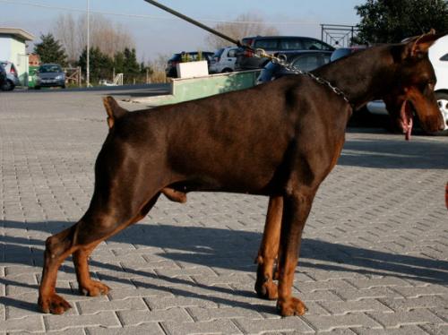
[[[258,263],[255,291],[258,296],[270,300],[277,299],[278,296],[277,285],[272,280],[274,279],[274,262],[279,253],[282,211],[283,198],[281,196],[270,197],[263,240],[255,260]]]

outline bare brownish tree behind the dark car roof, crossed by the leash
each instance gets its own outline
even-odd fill
[[[237,16],[234,22],[218,23],[213,29],[222,32],[232,39],[243,39],[257,35],[278,35],[277,28],[263,22],[263,18],[254,13],[245,13]],[[216,35],[209,34],[206,38],[207,44],[213,49],[227,47],[229,42]]]

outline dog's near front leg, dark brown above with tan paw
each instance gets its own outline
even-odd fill
[[[296,271],[302,231],[311,210],[314,190],[299,190],[283,198],[283,218],[280,229],[279,298],[277,308],[282,316],[303,315],[306,306],[292,296],[292,284]]]

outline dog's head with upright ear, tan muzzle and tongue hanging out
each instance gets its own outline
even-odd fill
[[[414,113],[427,132],[444,129],[444,119],[435,99],[435,72],[428,58],[428,49],[442,37],[434,30],[392,47],[394,59],[393,89],[383,100],[406,139],[412,131]]]

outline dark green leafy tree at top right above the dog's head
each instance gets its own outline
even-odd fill
[[[393,43],[434,28],[448,32],[446,0],[367,0],[355,7],[361,17],[360,44]]]

